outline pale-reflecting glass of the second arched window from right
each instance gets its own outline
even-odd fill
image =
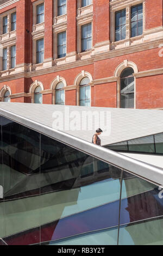
[[[88,77],[84,77],[80,82],[80,106],[91,106],[91,88],[89,84]]]

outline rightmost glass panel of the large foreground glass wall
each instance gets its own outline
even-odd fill
[[[135,176],[124,179],[124,175],[119,245],[163,245],[160,188]]]

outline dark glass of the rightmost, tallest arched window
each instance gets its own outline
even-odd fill
[[[121,108],[134,108],[134,70],[124,69],[121,73]]]

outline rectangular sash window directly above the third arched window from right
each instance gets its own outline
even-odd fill
[[[66,31],[58,33],[57,42],[58,58],[63,58],[66,56]]]

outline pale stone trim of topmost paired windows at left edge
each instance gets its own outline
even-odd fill
[[[5,11],[5,13],[2,13],[0,15],[0,34],[1,34],[1,36],[16,32],[16,30],[11,31],[11,14],[12,13],[16,13],[16,8],[12,8],[11,10]],[[8,17],[8,32],[3,34],[3,17],[5,17],[5,16]]]

